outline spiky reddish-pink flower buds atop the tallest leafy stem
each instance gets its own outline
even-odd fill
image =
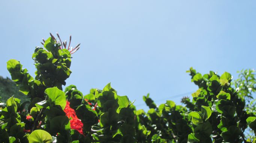
[[[55,37],[50,33],[52,39],[55,40],[58,44],[61,45],[61,46],[60,46],[60,49],[67,49],[67,50],[69,50],[70,54],[73,54],[73,53],[75,53],[75,52],[80,48],[80,43],[79,43],[78,45],[76,45],[75,48],[70,47],[71,35],[69,36],[69,45],[67,46],[67,41],[65,40],[64,42],[62,42],[61,39],[60,39],[60,35],[59,35],[58,33],[56,33],[56,34],[57,34],[57,37],[58,37],[59,40],[57,40],[57,38],[55,38]],[[41,44],[44,45],[44,43],[45,43],[45,40],[43,39],[43,42],[41,42]]]

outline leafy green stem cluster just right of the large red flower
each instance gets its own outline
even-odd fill
[[[96,142],[135,143],[134,112],[127,96],[118,96],[116,91],[108,84],[97,98],[100,115],[100,125],[95,127],[100,132],[94,133]],[[94,127],[94,128],[95,128]]]

